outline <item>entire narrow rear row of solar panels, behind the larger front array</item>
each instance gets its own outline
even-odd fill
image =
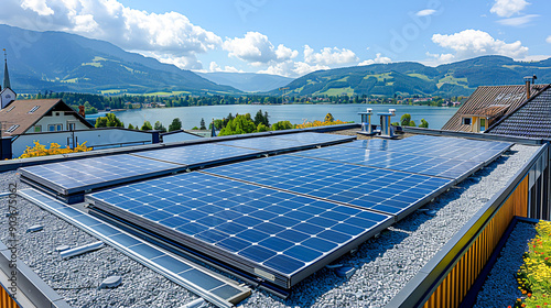
[[[168,175],[187,168],[241,161],[267,153],[293,151],[355,139],[354,136],[327,136],[322,133],[294,135],[301,136],[288,135],[287,139],[263,136],[235,141],[236,144],[252,144],[253,148],[227,146],[228,143],[233,143],[228,141],[84,158],[23,167],[20,170],[22,179],[29,184],[47,193],[54,191],[67,202],[79,202],[84,199],[83,194],[90,189]]]

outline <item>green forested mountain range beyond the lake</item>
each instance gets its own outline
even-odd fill
[[[291,96],[372,95],[467,96],[478,86],[519,85],[525,76],[551,82],[551,58],[517,62],[482,56],[436,67],[402,62],[317,70],[296,79],[252,73],[194,73],[163,64],[111,43],[64,32],[35,32],[0,25],[9,55],[12,88],[20,94]]]

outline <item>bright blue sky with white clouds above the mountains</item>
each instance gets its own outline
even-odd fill
[[[551,56],[549,0],[3,0],[0,23],[105,40],[199,72]]]

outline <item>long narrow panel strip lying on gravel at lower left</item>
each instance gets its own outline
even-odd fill
[[[95,217],[54,200],[34,189],[23,189],[21,196],[90,233],[129,257],[168,276],[171,280],[208,298],[209,301],[229,307],[250,295],[250,289],[238,285],[203,266],[166,253],[133,235],[122,232]],[[228,302],[225,302],[228,301]]]

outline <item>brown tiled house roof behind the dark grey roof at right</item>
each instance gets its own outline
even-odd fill
[[[545,85],[531,85],[531,95],[536,95],[544,87]],[[523,101],[526,101],[525,85],[478,87],[447,123],[444,124],[442,130],[468,132],[471,131],[471,125],[463,124],[461,120],[463,116],[497,118],[508,114]]]

